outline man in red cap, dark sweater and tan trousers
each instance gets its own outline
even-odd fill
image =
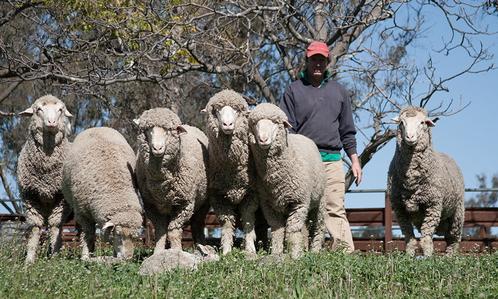
[[[351,228],[344,209],[344,167],[341,149],[352,162],[356,185],[362,168],[356,151],[356,129],[351,101],[346,89],[328,78],[329,49],[323,42],[312,42],[306,50],[306,70],[301,78],[285,88],[280,108],[292,126],[291,133],[304,135],[318,147],[327,171],[325,225],[333,238],[332,249],[347,253],[355,250]]]

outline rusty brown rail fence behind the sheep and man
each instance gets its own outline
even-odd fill
[[[346,214],[351,226],[380,226],[384,227],[383,237],[354,237],[355,248],[363,252],[378,251],[388,252],[392,250],[404,250],[404,238],[392,236],[392,226],[397,223],[394,219],[394,213],[391,205],[385,195],[385,208],[355,208],[346,209]],[[24,221],[22,215],[0,214],[0,221]],[[387,224],[387,225],[386,225]],[[485,252],[498,248],[498,239],[486,235],[486,228],[498,226],[498,208],[466,208],[465,223],[466,227],[479,227],[480,236],[477,238],[463,238],[460,244],[462,250]],[[154,244],[153,227],[150,221],[144,218],[144,232],[140,235],[140,240],[145,247]],[[219,228],[218,218],[213,212],[206,217],[206,228]],[[74,220],[66,223],[63,227],[63,242],[66,245],[78,244],[77,233],[74,229]],[[27,233],[26,233],[27,237]],[[219,238],[208,238],[210,244],[219,244]],[[328,244],[327,244],[328,245]],[[446,243],[444,238],[434,238],[434,248],[444,251]],[[190,236],[190,227],[184,227],[183,246],[192,246],[192,237]],[[418,245],[419,246],[419,245]],[[420,246],[419,246],[420,247]]]

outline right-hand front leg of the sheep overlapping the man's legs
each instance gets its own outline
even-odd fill
[[[308,216],[307,206],[298,206],[290,210],[285,226],[285,235],[289,244],[290,256],[293,259],[299,258],[303,252],[302,228]]]

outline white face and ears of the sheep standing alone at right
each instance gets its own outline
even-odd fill
[[[399,134],[403,141],[413,147],[422,134],[427,132],[427,127],[434,127],[435,124],[423,113],[402,114],[392,119],[398,123]]]

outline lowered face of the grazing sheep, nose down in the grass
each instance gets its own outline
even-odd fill
[[[107,240],[113,242],[114,257],[119,259],[130,259],[133,254],[135,239],[137,236],[130,233],[130,230],[121,225],[114,225],[107,222],[102,228]]]

